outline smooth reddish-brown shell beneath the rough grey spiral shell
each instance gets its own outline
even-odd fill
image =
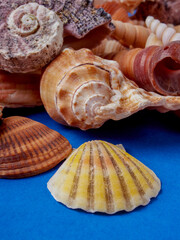
[[[0,105],[10,108],[42,105],[40,79],[41,71],[27,74],[0,71]]]

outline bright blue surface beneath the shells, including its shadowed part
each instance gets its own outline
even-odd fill
[[[149,205],[130,213],[90,214],[57,203],[47,190],[60,165],[31,178],[1,179],[1,240],[180,239],[180,119],[174,113],[145,110],[86,132],[56,123],[43,108],[6,110],[8,115],[37,120],[64,135],[74,148],[94,139],[122,143],[157,174],[162,190]]]

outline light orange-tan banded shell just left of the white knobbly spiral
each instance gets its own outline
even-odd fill
[[[112,36],[120,41],[123,45],[144,48],[147,38],[149,37],[149,29],[134,25],[131,23],[123,23],[121,21],[112,21],[115,25],[115,31]]]

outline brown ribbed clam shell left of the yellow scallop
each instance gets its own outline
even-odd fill
[[[0,178],[40,174],[56,166],[72,151],[61,134],[28,118],[5,118],[0,132]]]

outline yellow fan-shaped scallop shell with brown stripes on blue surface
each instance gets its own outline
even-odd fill
[[[113,214],[147,205],[160,191],[155,173],[119,147],[86,142],[49,180],[56,201],[69,208]]]

